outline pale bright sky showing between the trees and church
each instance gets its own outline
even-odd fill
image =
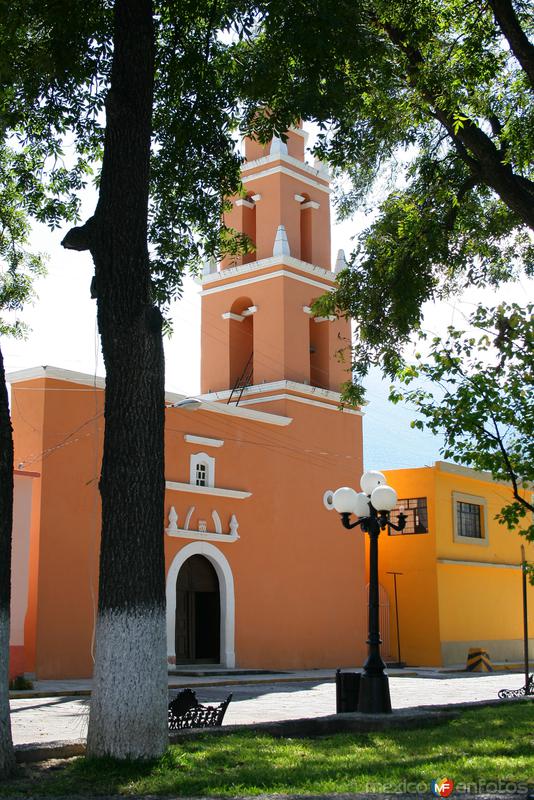
[[[87,190],[83,198],[82,219],[93,213],[96,195]],[[332,263],[339,248],[352,249],[351,237],[365,223],[362,215],[332,228]],[[61,239],[68,228],[50,232],[36,225],[33,245],[48,255],[48,274],[36,282],[37,299],[28,305],[22,318],[30,327],[25,340],[3,339],[2,350],[7,372],[38,365],[51,365],[89,374],[104,375],[96,326],[96,301],[90,298],[93,275],[88,253],[64,250]],[[173,303],[173,334],[165,340],[166,388],[190,396],[200,391],[200,285],[191,277],[184,280],[183,296]],[[499,295],[471,290],[462,297],[425,306],[424,328],[443,333],[450,324],[465,325],[465,317],[478,301],[525,300],[534,296],[534,282],[505,287]],[[413,430],[413,410],[392,405],[387,400],[389,381],[378,371],[366,382],[364,416],[364,464],[366,469],[393,469],[432,464],[440,458],[439,437]]]

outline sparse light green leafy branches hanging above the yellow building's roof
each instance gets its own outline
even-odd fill
[[[498,521],[534,541],[534,305],[480,306],[475,330],[449,328],[425,360],[398,370],[390,400],[407,401],[412,425],[445,436],[443,455],[511,484]]]

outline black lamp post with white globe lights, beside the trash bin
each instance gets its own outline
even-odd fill
[[[397,503],[397,493],[386,484],[381,472],[366,472],[362,475],[362,492],[355,492],[344,486],[334,492],[333,506],[341,514],[345,528],[359,526],[369,534],[369,634],[367,645],[369,655],[363,665],[358,696],[358,711],[367,714],[388,714],[391,712],[389,681],[386,665],[380,655],[379,594],[378,594],[378,537],[380,531],[390,526],[402,531],[406,517],[399,514],[398,524],[389,519],[389,513]],[[358,519],[350,522],[351,514]]]

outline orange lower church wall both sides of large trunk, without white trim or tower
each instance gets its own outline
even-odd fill
[[[32,468],[42,475],[35,481],[41,484],[40,525],[26,671],[42,679],[87,677],[97,597],[103,392],[52,379],[16,383],[12,391],[17,462],[35,459]],[[204,411],[167,411],[167,479],[188,482],[189,455],[203,449],[186,443],[184,433],[215,436],[225,441],[214,451],[216,484],[252,497],[191,499],[167,491],[166,513],[174,505],[183,520],[196,505],[196,513],[210,519],[215,508],[225,529],[232,513],[238,517],[241,538],[217,547],[234,574],[240,666],[361,663],[363,544],[345,534],[322,502],[327,489],[361,472],[360,417],[293,401],[269,406],[294,421],[279,428]],[[168,565],[187,543],[165,536]]]

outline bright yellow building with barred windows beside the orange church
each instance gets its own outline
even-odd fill
[[[380,583],[390,607],[389,656],[397,656],[391,574],[397,572],[401,659],[407,664],[465,664],[470,647],[485,648],[495,663],[521,662],[521,544],[528,561],[534,561],[534,545],[495,520],[511,499],[510,487],[489,473],[444,461],[384,474],[408,516],[402,534],[380,537]],[[533,586],[528,585],[527,599],[533,658]]]

